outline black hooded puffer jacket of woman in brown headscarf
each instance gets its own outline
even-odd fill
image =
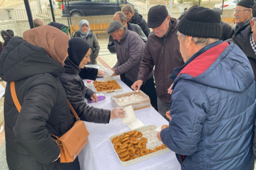
[[[0,76],[7,82],[4,98],[6,158],[10,170],[79,170],[79,162],[53,162],[60,153],[50,134],[61,137],[74,124],[58,77],[65,71],[44,48],[13,37],[0,55]],[[21,111],[11,98],[15,81]]]

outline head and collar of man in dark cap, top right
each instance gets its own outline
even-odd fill
[[[239,28],[250,23],[250,20],[252,20],[252,7],[254,4],[255,0],[240,0],[236,4],[236,9],[234,11],[236,20],[235,25],[232,26],[230,38]]]

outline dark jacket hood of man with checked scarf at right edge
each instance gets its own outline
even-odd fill
[[[256,59],[255,52],[252,50],[252,46],[250,44],[250,35],[252,33],[252,26],[250,22],[239,28],[232,39],[235,43],[241,48],[241,50],[247,55],[247,57],[251,57]]]

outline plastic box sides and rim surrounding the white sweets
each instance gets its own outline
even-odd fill
[[[141,101],[131,101],[129,103],[125,103],[124,105],[120,105],[120,103],[117,101],[118,98],[121,98],[124,96],[131,96],[132,94],[139,94],[140,96],[143,96],[144,99]],[[111,103],[115,108],[117,108],[117,107],[126,108],[127,106],[132,106],[133,110],[148,108],[151,105],[149,96],[147,94],[143,93],[143,91],[139,91],[139,92],[131,91],[131,92],[127,92],[127,93],[114,94],[111,96]]]

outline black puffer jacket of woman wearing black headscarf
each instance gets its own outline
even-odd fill
[[[67,57],[66,72],[59,78],[67,94],[67,99],[81,120],[94,123],[109,123],[110,110],[86,105],[84,98],[90,99],[94,91],[86,88],[79,76],[80,69]]]

